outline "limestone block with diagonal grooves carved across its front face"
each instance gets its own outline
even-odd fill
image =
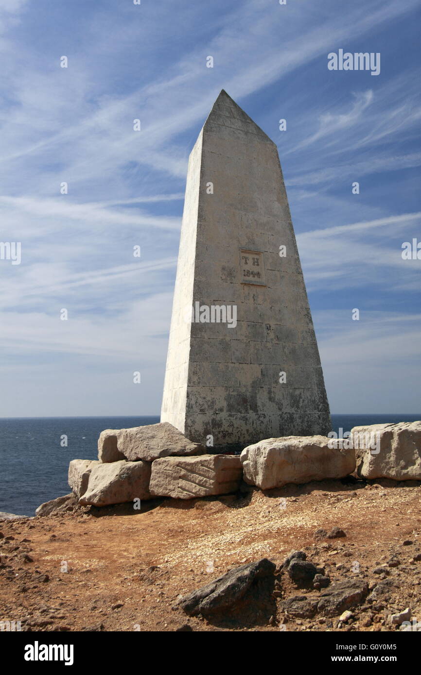
[[[224,495],[239,488],[241,475],[239,456],[165,457],[152,463],[149,489],[175,499]]]

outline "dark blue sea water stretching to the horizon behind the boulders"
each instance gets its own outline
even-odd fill
[[[332,415],[332,429],[357,425],[413,422],[421,414]],[[103,429],[140,427],[156,417],[14,417],[0,418],[0,511],[34,515],[49,499],[70,492],[68,465],[74,459],[97,459]],[[68,446],[61,447],[66,434]]]

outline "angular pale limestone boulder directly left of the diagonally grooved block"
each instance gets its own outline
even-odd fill
[[[89,473],[88,485],[80,496],[79,504],[108,506],[132,502],[133,499],[151,499],[149,479],[150,462],[95,462]]]

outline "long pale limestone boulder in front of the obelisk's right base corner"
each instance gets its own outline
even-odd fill
[[[244,480],[263,490],[287,483],[343,478],[355,470],[355,451],[329,448],[326,436],[284,436],[241,453]]]

